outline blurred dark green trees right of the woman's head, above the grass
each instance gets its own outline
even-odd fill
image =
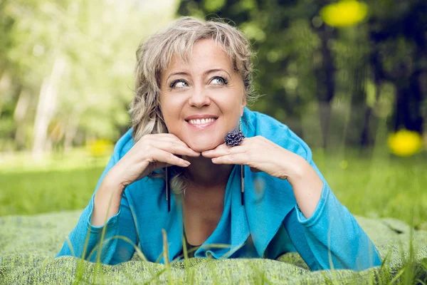
[[[379,120],[389,130],[423,131],[426,6],[423,0],[181,0],[178,13],[231,19],[251,38],[255,83],[267,95],[255,109],[305,137],[324,138],[323,146],[328,140],[366,145]],[[329,19],[322,18],[325,7]]]

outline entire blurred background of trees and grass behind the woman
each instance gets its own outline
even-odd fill
[[[85,207],[130,126],[139,42],[182,15],[246,33],[251,108],[351,212],[427,229],[425,0],[0,0],[0,215]]]

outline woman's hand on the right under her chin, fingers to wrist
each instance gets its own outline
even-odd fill
[[[251,171],[263,171],[280,179],[291,182],[304,175],[307,160],[274,142],[258,135],[245,138],[241,145],[229,147],[225,143],[214,150],[201,152],[215,164],[248,165]]]

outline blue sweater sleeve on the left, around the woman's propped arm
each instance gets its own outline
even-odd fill
[[[117,160],[115,157],[117,155],[113,155],[107,167],[105,167],[97,183],[96,190],[107,172],[115,165]],[[95,194],[90,199],[88,206],[83,210],[77,226],[70,233],[56,257],[70,255],[95,262],[100,248],[99,245],[101,244],[100,262],[102,264],[119,264],[130,260],[135,252],[134,245],[137,244],[137,232],[130,204],[127,202],[126,190],[122,195],[119,212],[110,217],[100,227],[94,227],[90,224],[94,196]],[[104,232],[103,238],[102,232]],[[130,239],[132,244],[118,237]]]

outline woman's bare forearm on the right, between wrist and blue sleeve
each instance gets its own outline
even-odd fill
[[[310,218],[322,195],[322,179],[310,163],[301,158],[295,167],[295,174],[290,175],[288,181],[292,185],[300,211],[306,219]]]

